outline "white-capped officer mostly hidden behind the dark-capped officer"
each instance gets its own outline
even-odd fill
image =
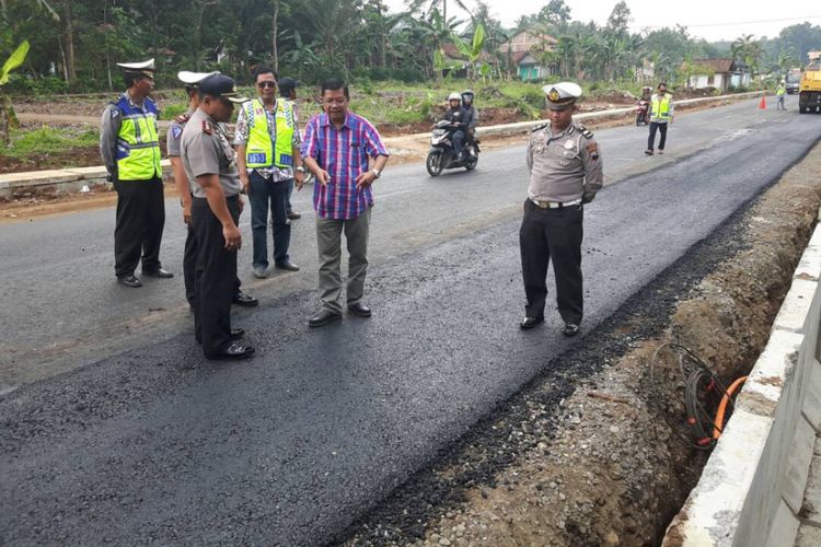
[[[185,237],[185,252],[183,254],[183,279],[185,280],[185,299],[188,301],[192,311],[194,310],[194,270],[197,261],[197,237],[190,223],[190,205],[194,188],[185,174],[183,160],[180,158],[180,139],[183,136],[185,125],[188,123],[192,114],[199,106],[199,94],[197,86],[199,82],[211,74],[219,72],[188,72],[183,70],[177,72],[176,77],[185,84],[185,92],[188,95],[188,112],[181,114],[171,123],[166,136],[169,160],[174,172],[174,183],[180,194],[180,205],[183,207],[183,222],[185,222],[187,235]],[[224,128],[220,127],[224,130]],[[196,184],[196,183],[194,183]],[[233,303],[241,306],[255,306],[259,303],[257,299],[245,294],[240,289],[242,282],[239,278],[234,281]]]

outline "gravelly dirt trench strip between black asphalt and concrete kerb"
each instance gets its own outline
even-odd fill
[[[654,351],[685,346],[726,384],[750,371],[816,225],[818,173],[821,144],[332,545],[660,544],[709,453],[666,422],[681,389],[652,388]]]

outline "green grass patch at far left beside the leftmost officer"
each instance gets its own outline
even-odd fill
[[[0,158],[27,158],[95,147],[99,139],[97,129],[82,127],[42,126],[31,130],[13,129],[11,147],[7,148],[0,143]]]

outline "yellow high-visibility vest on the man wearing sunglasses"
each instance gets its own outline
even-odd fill
[[[258,98],[251,101],[245,108],[248,124],[248,142],[245,146],[247,167],[290,167],[293,165],[293,105],[278,100],[274,115],[276,137],[268,130],[268,116]]]

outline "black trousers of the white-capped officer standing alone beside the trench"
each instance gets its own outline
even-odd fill
[[[524,295],[528,299],[524,310],[528,317],[544,317],[547,265],[553,259],[558,313],[565,323],[581,323],[582,220],[581,206],[540,209],[530,200],[524,202],[519,246],[522,255]]]

